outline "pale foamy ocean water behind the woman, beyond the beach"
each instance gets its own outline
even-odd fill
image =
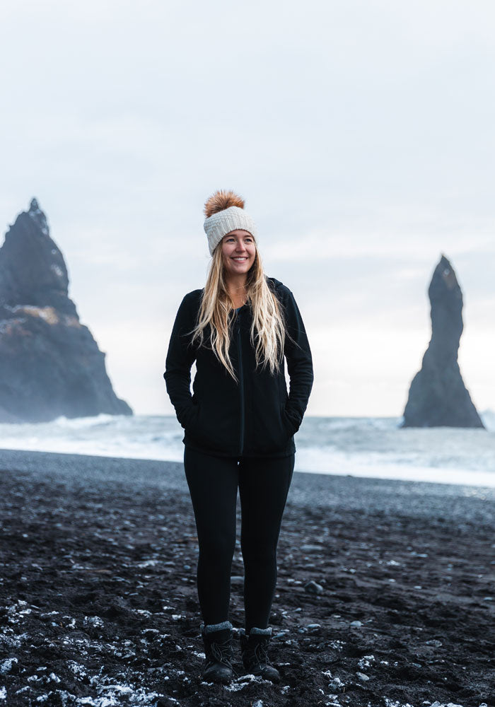
[[[296,434],[296,471],[495,486],[495,413],[486,430],[400,428],[396,417],[310,417]],[[0,424],[0,448],[182,461],[175,416],[60,417]],[[1,463],[1,452],[0,452]]]

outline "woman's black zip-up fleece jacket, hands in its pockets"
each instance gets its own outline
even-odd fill
[[[250,303],[234,312],[229,355],[238,382],[206,346],[191,344],[203,290],[187,293],[173,325],[165,363],[165,384],[177,420],[185,428],[187,447],[225,457],[286,457],[296,450],[298,431],[313,386],[313,361],[308,337],[293,294],[284,284],[267,277],[269,288],[282,305],[286,321],[284,355],[290,379],[288,394],[284,366],[272,375],[256,368],[250,342]],[[192,385],[191,367],[197,373]]]

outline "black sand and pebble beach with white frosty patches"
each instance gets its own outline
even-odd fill
[[[495,704],[495,489],[295,474],[274,686],[202,683],[182,464],[0,450],[0,707]],[[240,548],[231,616],[243,626]],[[308,585],[308,583],[310,583]]]

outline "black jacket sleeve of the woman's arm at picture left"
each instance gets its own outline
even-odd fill
[[[190,298],[186,295],[175,317],[163,373],[170,402],[182,427],[187,425],[194,412],[190,388],[191,366],[196,358],[196,351],[190,343],[194,324]]]

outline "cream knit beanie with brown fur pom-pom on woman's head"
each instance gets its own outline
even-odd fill
[[[210,255],[224,235],[232,230],[247,230],[257,242],[255,222],[244,211],[244,199],[235,192],[219,189],[204,204],[204,231]]]

